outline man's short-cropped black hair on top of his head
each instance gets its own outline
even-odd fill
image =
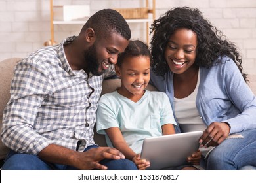
[[[117,33],[127,40],[131,38],[129,25],[125,21],[125,18],[116,10],[99,10],[89,18],[83,26],[82,31],[85,31],[89,27],[93,28],[96,35],[108,37],[112,33]]]

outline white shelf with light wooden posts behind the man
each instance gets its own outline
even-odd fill
[[[150,18],[129,18],[126,19],[127,23],[144,23],[146,22],[146,42],[149,43],[149,24],[150,22],[153,22],[156,18],[156,0],[152,1],[152,8],[149,7],[149,0],[146,0],[146,13],[152,14]],[[45,42],[45,46],[56,44],[56,41],[54,40],[54,25],[57,24],[66,24],[66,25],[74,25],[74,24],[85,24],[86,20],[71,20],[71,21],[64,21],[64,20],[54,20],[54,8],[61,8],[62,6],[54,6],[53,0],[50,0],[50,11],[51,11],[51,39],[47,42]],[[117,9],[121,10],[121,9]],[[123,9],[125,10],[125,9]],[[121,13],[121,12],[120,12]],[[121,13],[122,14],[122,13]],[[125,17],[125,16],[124,16]]]

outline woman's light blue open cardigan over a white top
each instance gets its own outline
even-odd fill
[[[150,76],[150,84],[167,93],[174,107],[173,73],[168,71],[163,78],[151,71]],[[223,58],[222,63],[209,69],[200,67],[196,107],[207,126],[211,122],[228,122],[230,134],[256,128],[255,95],[230,58]]]

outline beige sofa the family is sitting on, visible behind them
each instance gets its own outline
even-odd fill
[[[5,108],[5,105],[9,101],[10,97],[10,84],[11,79],[13,76],[13,68],[18,61],[20,61],[21,58],[9,58],[5,59],[3,61],[0,61],[0,73],[1,73],[1,80],[0,80],[0,129],[2,127],[2,116],[3,116],[3,110]],[[249,86],[251,87],[251,90],[253,90],[253,93],[256,94],[256,75],[250,75],[249,76]],[[121,82],[119,79],[109,79],[104,80],[102,83],[102,94],[113,92],[121,85]],[[156,90],[154,86],[148,85],[146,88],[147,90]],[[100,146],[106,146],[106,141],[104,138],[104,135],[98,135],[96,133],[95,129],[95,142],[96,144]],[[0,136],[0,167],[3,165],[3,159],[5,159],[5,156],[9,152],[9,149],[5,147],[2,143],[1,136]]]

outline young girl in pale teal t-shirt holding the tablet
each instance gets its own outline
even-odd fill
[[[143,140],[174,134],[176,125],[167,95],[145,90],[150,80],[150,60],[146,44],[130,41],[125,52],[119,54],[116,64],[121,87],[102,95],[97,110],[98,133],[105,134],[108,146],[123,152],[138,169],[150,166],[150,162],[140,159]],[[200,155],[195,152],[188,162],[198,165]],[[188,169],[188,165],[183,167]]]

